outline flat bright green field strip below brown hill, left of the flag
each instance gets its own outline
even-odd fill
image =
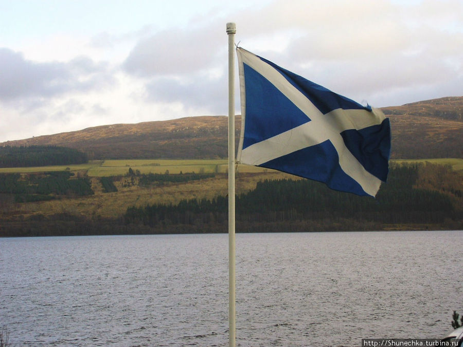
[[[228,162],[226,159],[137,159],[137,160],[95,160],[80,165],[44,166],[31,168],[0,168],[0,173],[32,173],[44,171],[85,171],[88,176],[123,176],[129,172],[129,168],[142,174],[159,173],[226,173]],[[266,172],[272,171],[249,165],[238,165],[238,172]]]

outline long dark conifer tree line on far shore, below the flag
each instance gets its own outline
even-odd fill
[[[323,226],[359,230],[362,225],[371,228],[384,224],[461,222],[462,211],[456,208],[452,196],[415,186],[419,167],[391,167],[388,182],[381,186],[376,198],[333,191],[306,179],[259,182],[256,189],[236,197],[236,220],[240,226],[237,230],[269,231],[272,224],[281,228],[280,231],[295,225],[298,225],[294,227],[297,231],[304,231],[299,230],[304,228],[310,231],[311,228],[323,229]],[[215,228],[224,231],[227,206],[226,196],[182,200],[176,205],[132,206],[123,220],[127,225],[145,225],[158,230],[184,226],[185,230],[197,232]]]

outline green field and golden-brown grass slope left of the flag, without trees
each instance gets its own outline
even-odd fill
[[[139,176],[128,176],[129,169],[139,174],[158,173],[187,174],[212,173],[215,177],[199,181],[167,184],[163,186],[140,187]],[[182,199],[213,198],[226,195],[227,160],[104,160],[93,161],[88,165],[54,166],[36,168],[1,168],[2,173],[19,173],[24,179],[33,173],[63,171],[73,173],[75,177],[89,177],[94,195],[81,197],[59,197],[57,199],[27,204],[17,204],[8,194],[0,192],[0,221],[21,218],[37,218],[59,213],[92,218],[117,218],[128,206],[143,206],[153,203],[178,203]],[[104,193],[101,177],[114,176],[117,192]],[[270,169],[247,165],[237,167],[237,192],[253,189],[262,179],[291,177]],[[3,203],[2,203],[3,201]],[[1,211],[3,208],[3,211]]]

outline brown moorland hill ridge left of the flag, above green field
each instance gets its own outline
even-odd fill
[[[239,135],[240,120],[236,122]],[[65,145],[89,159],[223,158],[227,156],[227,117],[187,117],[137,124],[112,124],[8,141],[1,145]]]

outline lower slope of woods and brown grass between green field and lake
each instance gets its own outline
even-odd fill
[[[104,177],[72,168],[2,173],[0,237],[226,232],[227,174],[206,172],[208,164],[199,174],[186,173],[188,166],[183,174],[126,168],[126,175]],[[461,173],[450,165],[393,162],[376,199],[276,171],[241,169],[238,232],[463,227]]]

